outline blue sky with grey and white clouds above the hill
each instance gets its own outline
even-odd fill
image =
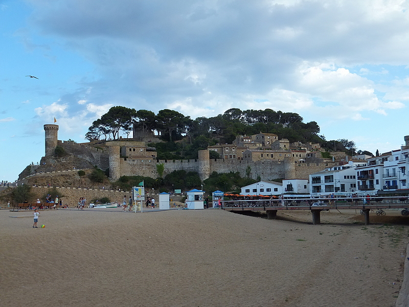
[[[111,106],[294,112],[373,153],[409,135],[404,0],[0,0],[0,181]],[[36,76],[38,79],[26,77]]]

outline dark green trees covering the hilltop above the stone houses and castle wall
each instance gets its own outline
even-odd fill
[[[346,139],[327,141],[319,135],[320,126],[311,121],[304,123],[297,113],[284,113],[272,109],[245,110],[231,108],[215,117],[191,119],[171,109],[163,109],[156,115],[145,109],[135,110],[114,106],[88,128],[86,139],[115,140],[120,132],[129,136],[132,128],[142,135],[152,130],[160,133],[161,142],[149,143],[155,147],[158,159],[196,159],[198,150],[217,143],[231,144],[238,135],[272,133],[290,142],[319,143],[328,151],[355,153],[355,143]],[[217,157],[215,157],[217,158]]]

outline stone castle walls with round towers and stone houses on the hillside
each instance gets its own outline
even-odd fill
[[[210,146],[199,150],[198,159],[158,160],[155,148],[143,141],[122,139],[75,143],[58,140],[58,125],[44,125],[46,133],[46,156],[52,157],[57,145],[69,155],[80,158],[103,170],[109,168],[111,181],[121,176],[146,176],[157,178],[157,164],[164,164],[164,176],[174,170],[196,171],[201,180],[218,173],[239,172],[264,181],[274,179],[307,179],[309,174],[321,171],[333,164],[348,163],[347,157],[322,159],[317,144],[289,143],[274,134],[239,136],[233,144]],[[315,147],[314,147],[315,146]],[[210,159],[210,151],[219,153],[219,159]],[[317,157],[319,156],[319,157]]]

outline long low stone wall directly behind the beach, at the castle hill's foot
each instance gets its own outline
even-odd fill
[[[35,194],[35,198],[41,199],[44,194],[48,194],[50,189],[53,187],[33,187],[32,192]],[[107,197],[111,202],[122,203],[124,195],[129,199],[131,196],[131,191],[120,191],[120,190],[101,190],[101,189],[86,189],[86,188],[64,188],[64,187],[55,187],[59,193],[58,196],[62,200],[62,204],[69,205],[70,208],[76,207],[78,200],[81,197],[84,197],[87,201],[87,205],[90,200],[96,198]],[[45,201],[45,200],[41,200]]]

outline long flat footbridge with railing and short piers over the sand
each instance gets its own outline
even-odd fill
[[[273,220],[277,217],[279,210],[310,210],[312,213],[312,224],[321,223],[321,211],[323,210],[345,210],[359,209],[365,217],[365,225],[369,225],[369,212],[374,209],[405,209],[402,215],[409,215],[409,198],[399,196],[374,197],[371,198],[297,198],[282,200],[239,200],[222,201],[221,209],[232,212],[239,211],[266,211],[267,218]],[[403,214],[405,213],[405,214]]]

